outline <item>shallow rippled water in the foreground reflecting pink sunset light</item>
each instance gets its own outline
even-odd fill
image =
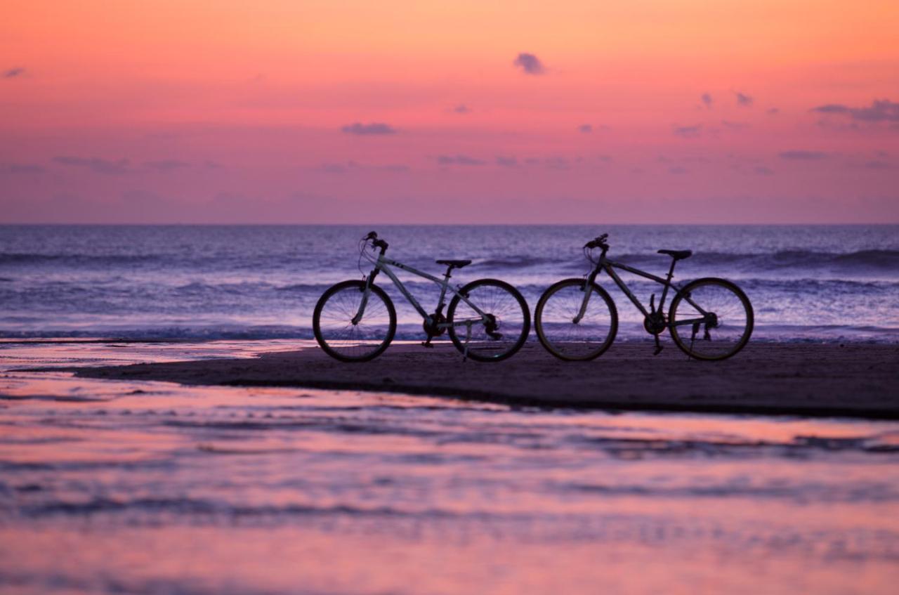
[[[895,592],[896,422],[9,371],[294,344],[0,343],[4,592]]]

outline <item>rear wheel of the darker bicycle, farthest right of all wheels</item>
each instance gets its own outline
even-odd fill
[[[704,312],[714,315],[711,323],[690,324],[701,321]],[[668,321],[681,351],[697,360],[725,360],[749,341],[754,316],[742,289],[727,280],[707,278],[691,281],[678,292]]]

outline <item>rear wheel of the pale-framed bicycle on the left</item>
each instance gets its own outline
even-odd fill
[[[471,321],[470,325],[449,327],[449,339],[458,351],[465,353],[467,348],[472,360],[499,361],[521,349],[530,333],[530,309],[518,289],[505,281],[481,279],[459,291],[488,315],[490,322],[485,324],[481,315],[458,294],[453,296],[447,309],[447,322]]]

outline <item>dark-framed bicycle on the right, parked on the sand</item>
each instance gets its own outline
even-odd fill
[[[749,297],[733,282],[713,277],[690,281],[679,287],[672,283],[674,265],[690,258],[690,250],[659,250],[672,257],[664,279],[606,257],[608,234],[583,245],[584,256],[593,265],[585,279],[565,279],[549,287],[540,296],[534,312],[534,325],[540,343],[561,360],[593,360],[609,349],[618,333],[618,309],[609,293],[596,283],[606,271],[644,316],[644,329],[655,340],[654,355],[662,351],[659,335],[668,329],[674,343],[689,358],[725,360],[742,350],[752,335],[754,315]],[[601,249],[599,259],[593,250]],[[662,298],[655,307],[655,294],[649,309],[640,303],[615,269],[628,271],[663,285]],[[668,314],[664,314],[668,290],[674,291]],[[594,297],[595,296],[595,297]],[[701,335],[699,334],[702,331]]]

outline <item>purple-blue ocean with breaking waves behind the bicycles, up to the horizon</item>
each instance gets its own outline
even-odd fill
[[[358,242],[371,229],[389,256],[433,274],[435,259],[472,259],[454,280],[507,280],[532,310],[553,282],[589,271],[581,246],[601,233],[610,258],[660,275],[670,260],[657,249],[689,249],[675,281],[735,281],[752,300],[754,341],[899,342],[895,225],[0,226],[0,336],[309,339],[322,292],[368,274]],[[432,309],[437,286],[401,277]],[[625,279],[647,304],[660,293]],[[379,281],[397,338],[422,338],[420,317]],[[619,340],[648,339],[627,298],[600,283],[619,306]]]

